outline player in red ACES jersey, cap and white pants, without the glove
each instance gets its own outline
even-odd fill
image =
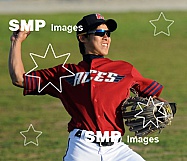
[[[163,86],[144,78],[133,65],[105,58],[111,43],[111,33],[117,23],[105,20],[101,14],[84,16],[77,26],[77,40],[83,60],[64,67],[75,75],[61,79],[62,93],[53,86],[40,88],[48,82],[59,85],[59,77],[69,75],[62,65],[32,71],[25,75],[21,60],[21,45],[29,32],[14,32],[11,36],[9,72],[14,85],[24,89],[24,95],[57,97],[71,116],[69,139],[64,161],[143,161],[144,159],[121,141],[124,122],[120,103],[129,97],[130,88],[140,96],[158,97]],[[120,41],[120,40],[119,40]]]

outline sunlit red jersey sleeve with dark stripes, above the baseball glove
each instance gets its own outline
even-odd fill
[[[132,70],[132,76],[134,78],[134,83],[132,88],[134,88],[139,96],[159,96],[162,92],[163,86],[155,80],[144,78],[134,67]]]

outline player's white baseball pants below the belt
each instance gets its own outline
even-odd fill
[[[69,134],[63,161],[145,161],[123,142],[115,142],[111,146],[99,146],[86,141],[86,130],[83,130],[80,137],[75,136],[78,130],[74,129]]]

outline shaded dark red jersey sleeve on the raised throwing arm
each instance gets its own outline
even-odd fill
[[[59,66],[24,74],[23,95],[45,95],[57,97],[60,89]],[[56,89],[55,89],[55,88]]]

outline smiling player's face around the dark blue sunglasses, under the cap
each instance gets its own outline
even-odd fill
[[[101,24],[96,30],[108,30],[105,24]],[[105,56],[108,54],[111,38],[105,34],[104,36],[97,36],[90,34],[86,43],[86,53]]]

